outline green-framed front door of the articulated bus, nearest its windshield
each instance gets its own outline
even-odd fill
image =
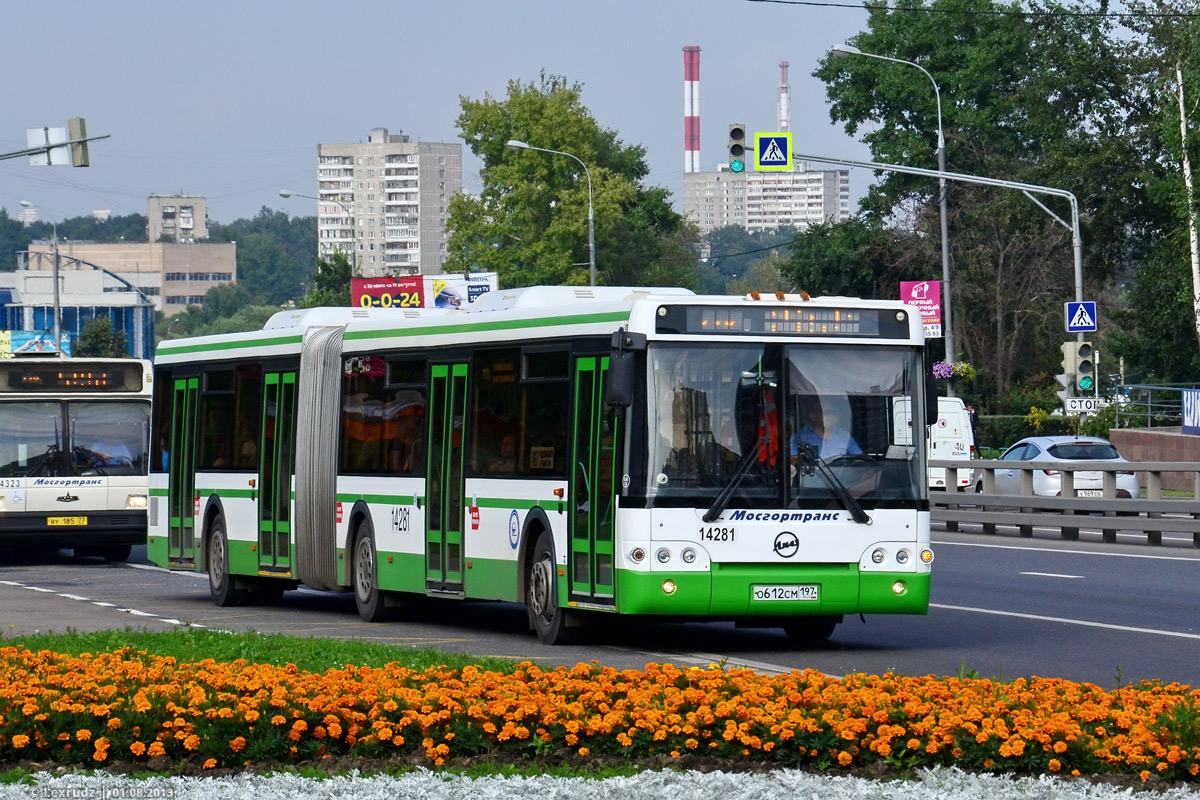
[[[575,361],[572,409],[569,594],[571,600],[611,604],[613,525],[617,511],[616,409],[604,402],[607,357]]]

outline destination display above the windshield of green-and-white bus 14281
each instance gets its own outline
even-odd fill
[[[880,308],[662,306],[658,332],[905,338],[908,319]]]

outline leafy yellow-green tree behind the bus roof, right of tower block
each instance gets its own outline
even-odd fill
[[[560,76],[509,82],[508,96],[461,98],[457,126],[482,158],[479,197],[450,201],[448,271],[494,270],[504,287],[587,284],[588,173],[598,283],[690,285],[697,233],[661,187],[644,187],[646,150],[601,128]],[[575,158],[512,150],[510,139]]]

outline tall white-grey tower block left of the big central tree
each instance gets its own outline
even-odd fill
[[[446,259],[462,145],[374,128],[366,142],[317,145],[318,255],[353,253],[364,277],[436,275]]]

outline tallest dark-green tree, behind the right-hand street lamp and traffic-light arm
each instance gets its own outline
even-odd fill
[[[901,0],[874,7],[868,30],[851,41],[931,73],[949,170],[1074,192],[1084,215],[1085,277],[1098,287],[1127,254],[1130,210],[1141,204],[1133,143],[1123,136],[1129,79],[1118,38],[1108,17],[1079,4]],[[920,71],[827,56],[815,74],[827,83],[835,121],[852,134],[871,126],[863,139],[875,160],[936,167],[937,106]],[[1061,314],[1049,299],[1073,296],[1070,240],[1019,192],[947,186],[953,314],[967,323],[956,344],[990,369],[1000,391],[1040,361],[1031,356],[1045,345],[1032,333],[1049,331]],[[913,277],[935,277],[941,260],[936,191],[934,180],[888,173],[864,201],[869,215],[912,233],[896,243],[908,263],[924,261],[924,273]],[[1099,235],[1088,235],[1092,229]],[[1021,289],[1030,294],[1022,297]]]

